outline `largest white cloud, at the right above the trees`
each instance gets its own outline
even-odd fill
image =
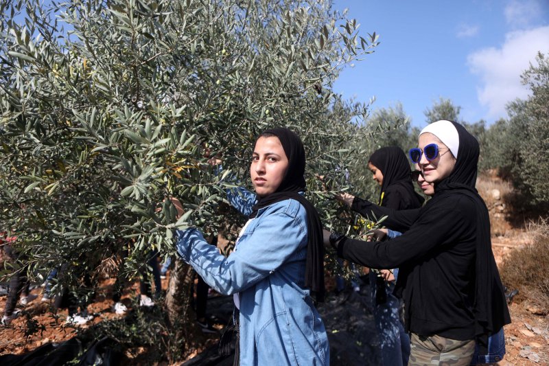
[[[478,100],[488,107],[489,117],[506,116],[507,103],[528,96],[520,76],[539,51],[549,52],[549,26],[508,33],[501,48],[480,49],[467,56],[469,69],[480,76]]]

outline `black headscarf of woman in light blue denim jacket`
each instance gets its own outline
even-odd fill
[[[286,157],[288,169],[277,190],[267,196],[259,197],[252,208],[250,218],[257,216],[257,211],[279,201],[294,199],[305,207],[307,212],[307,260],[305,262],[305,287],[310,288],[317,301],[324,300],[324,245],[320,217],[314,206],[301,196],[305,192],[305,148],[298,135],[288,128],[272,128],[261,136],[279,138]]]

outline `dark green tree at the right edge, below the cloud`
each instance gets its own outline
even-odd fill
[[[511,102],[509,120],[485,131],[481,167],[509,177],[523,208],[543,210],[549,207],[549,59],[540,53],[536,61],[522,75],[531,95]]]

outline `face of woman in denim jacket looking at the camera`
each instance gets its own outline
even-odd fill
[[[250,176],[255,193],[267,196],[277,190],[288,169],[288,157],[278,137],[259,137],[253,150]]]

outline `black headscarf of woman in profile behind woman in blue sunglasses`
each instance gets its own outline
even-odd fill
[[[423,198],[414,191],[412,178],[410,177],[410,163],[404,151],[397,146],[388,146],[375,150],[370,157],[370,163],[382,171],[382,192],[379,194],[379,205],[383,206],[383,197],[390,185],[401,185],[404,192],[410,196],[410,202],[417,201],[414,207],[399,207],[399,209],[412,209],[421,206]]]

